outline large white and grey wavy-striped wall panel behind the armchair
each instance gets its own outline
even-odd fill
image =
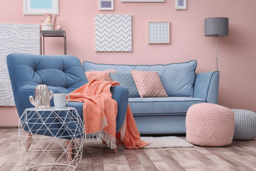
[[[10,53],[40,54],[40,25],[0,24],[0,106],[15,106],[6,64]]]

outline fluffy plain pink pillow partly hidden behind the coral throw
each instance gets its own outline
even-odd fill
[[[109,73],[117,73],[117,71],[116,70],[104,70],[104,71],[90,70],[85,72],[85,75],[89,82],[92,81],[93,79],[112,81],[111,77],[109,76]]]

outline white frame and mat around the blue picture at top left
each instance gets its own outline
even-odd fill
[[[52,8],[31,8],[30,0],[23,0],[23,15],[60,15],[59,0],[52,0]]]

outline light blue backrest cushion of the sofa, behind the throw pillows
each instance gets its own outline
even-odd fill
[[[131,73],[130,70],[158,71],[167,95],[171,97],[192,97],[194,92],[195,60],[175,64],[157,65],[116,65],[83,62],[84,71],[113,69],[118,73]]]

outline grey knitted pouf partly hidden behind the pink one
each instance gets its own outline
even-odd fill
[[[251,140],[256,137],[256,113],[250,110],[231,110],[235,114],[233,140]]]

